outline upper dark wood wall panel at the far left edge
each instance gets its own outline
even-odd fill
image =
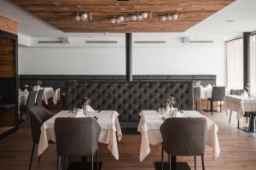
[[[0,77],[15,77],[15,40],[1,36]]]

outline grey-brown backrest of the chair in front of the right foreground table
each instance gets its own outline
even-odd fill
[[[205,154],[207,120],[204,117],[167,119],[160,127],[162,147],[171,156]]]

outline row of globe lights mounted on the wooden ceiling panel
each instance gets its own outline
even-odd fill
[[[88,20],[88,15],[86,13],[83,14],[79,14],[77,13],[74,17],[74,20],[76,21],[86,21]],[[90,18],[91,18],[91,14],[90,14]],[[143,13],[137,13],[137,14],[132,14],[130,16],[130,20],[135,21],[135,20],[144,20],[148,18],[148,13],[143,12]],[[152,12],[150,13],[150,18],[152,18]],[[167,14],[167,15],[160,15],[160,21],[171,21],[171,20],[177,20],[178,15],[177,14]],[[109,22],[111,24],[120,24],[121,22],[123,22],[125,20],[124,16],[119,16],[116,17],[116,15],[113,16],[112,19],[109,20]]]

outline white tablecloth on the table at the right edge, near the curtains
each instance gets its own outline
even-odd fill
[[[226,109],[236,111],[236,118],[240,119],[246,111],[256,111],[256,98],[226,95],[224,97],[224,106]]]

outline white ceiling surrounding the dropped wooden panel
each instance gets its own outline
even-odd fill
[[[137,33],[136,37],[195,37],[227,40],[244,31],[256,30],[256,0],[236,0],[228,7],[183,33]],[[28,37],[123,37],[119,33],[63,33],[22,8],[0,0],[0,14],[19,22],[19,34]],[[234,22],[226,22],[234,20]]]

